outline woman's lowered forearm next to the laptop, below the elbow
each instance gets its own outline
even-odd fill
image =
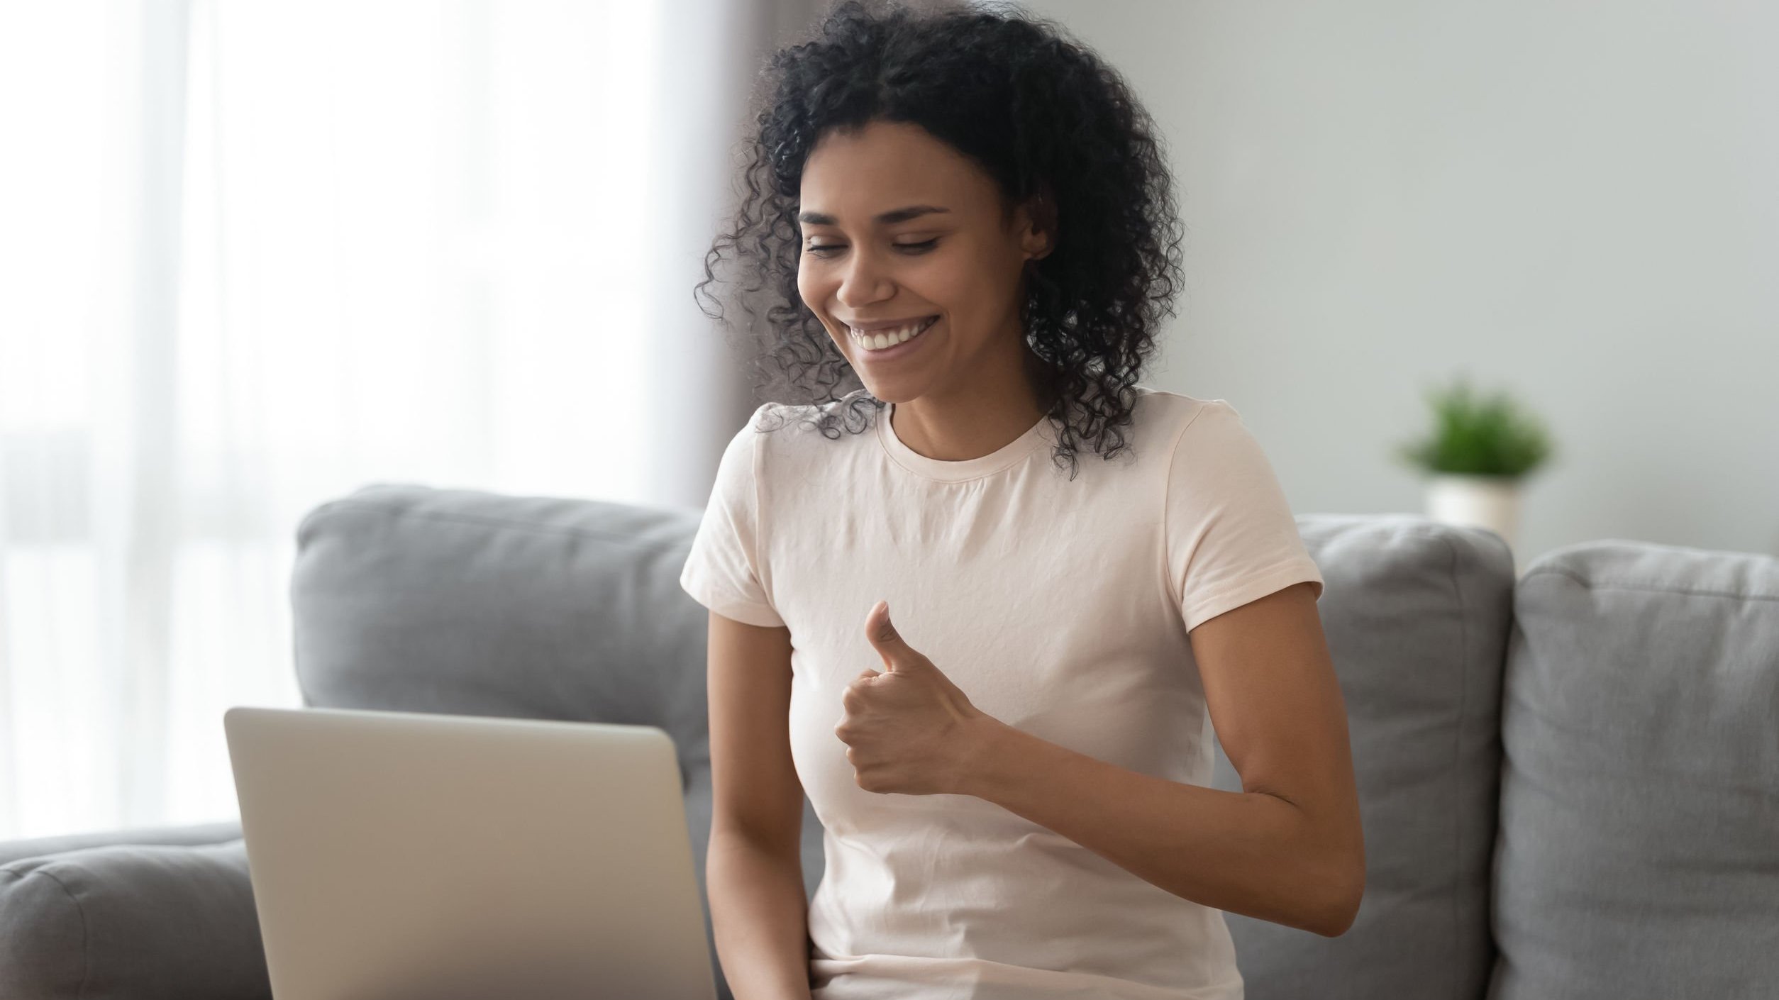
[[[710,923],[735,1000],[809,1000],[809,900],[795,856],[712,833],[704,856]]]

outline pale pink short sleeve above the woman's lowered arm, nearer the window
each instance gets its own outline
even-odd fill
[[[770,406],[770,404],[765,404]],[[765,409],[761,406],[760,409]],[[783,626],[761,585],[758,438],[749,418],[724,447],[704,518],[680,571],[680,587],[710,610],[747,625]]]

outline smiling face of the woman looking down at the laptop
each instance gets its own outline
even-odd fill
[[[799,222],[797,292],[873,397],[1021,370],[1019,278],[1048,237],[1023,206],[1003,222],[994,180],[952,146],[909,123],[829,132],[804,164]],[[870,343],[854,329],[884,324]]]

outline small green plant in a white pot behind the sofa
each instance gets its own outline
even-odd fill
[[[1480,397],[1462,374],[1448,388],[1429,388],[1427,402],[1432,434],[1397,452],[1427,477],[1427,516],[1489,528],[1512,548],[1519,484],[1551,456],[1550,434],[1505,391]]]

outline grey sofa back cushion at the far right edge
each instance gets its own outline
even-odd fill
[[[1779,559],[1573,544],[1514,617],[1491,998],[1779,995]]]

